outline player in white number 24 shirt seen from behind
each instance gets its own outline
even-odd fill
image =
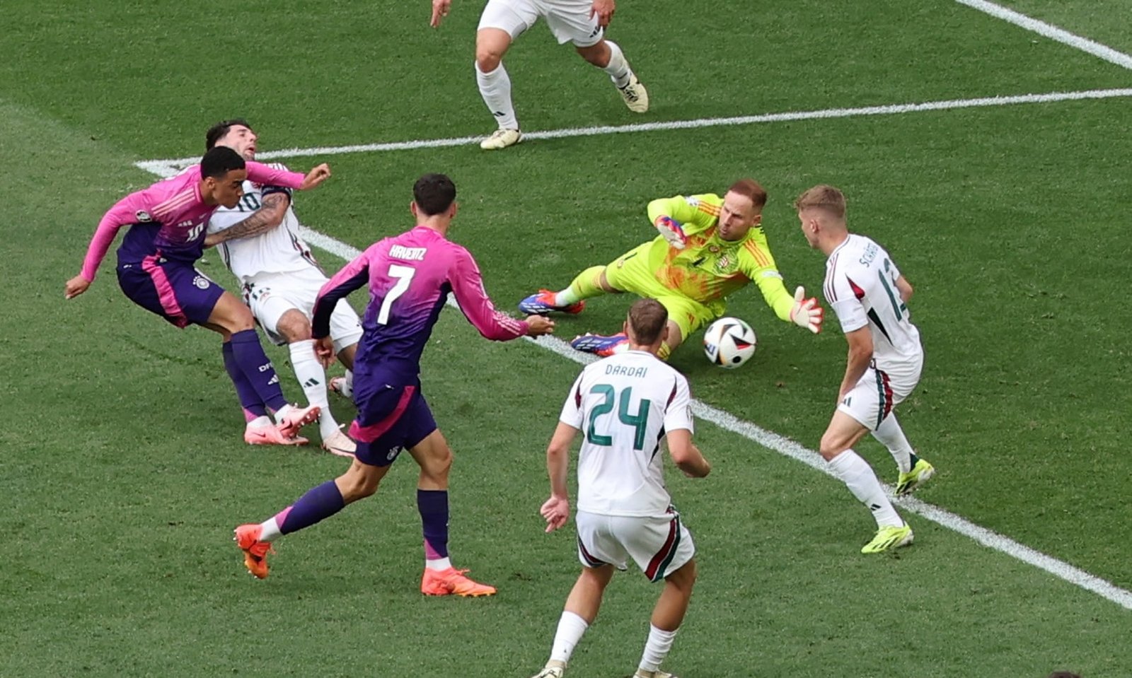
[[[574,646],[598,616],[601,597],[632,558],[664,590],[652,611],[637,678],[671,678],[660,670],[684,620],[696,580],[695,546],[664,489],[660,437],[676,465],[703,478],[711,465],[692,443],[688,383],[657,358],[668,314],[652,299],[629,309],[628,349],[582,370],[547,447],[550,498],[547,532],[566,524],[569,445],[588,426],[577,466],[577,555],[582,574],[566,599],[550,660],[535,678],[561,678]],[[616,412],[616,413],[615,413]]]

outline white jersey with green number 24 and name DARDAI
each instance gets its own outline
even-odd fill
[[[692,429],[692,395],[684,375],[644,351],[625,351],[582,370],[559,421],[582,431],[577,509],[617,516],[662,516],[660,439]]]

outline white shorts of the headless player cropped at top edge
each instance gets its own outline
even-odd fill
[[[592,0],[488,0],[478,29],[499,28],[515,40],[543,17],[558,44],[590,48],[604,34],[598,17],[590,16],[592,7]]]

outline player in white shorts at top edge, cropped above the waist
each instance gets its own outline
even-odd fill
[[[448,16],[452,0],[432,0],[430,25],[436,28]],[[511,101],[511,76],[503,65],[511,43],[539,20],[546,19],[558,43],[572,42],[578,55],[606,71],[634,113],[649,110],[649,93],[637,79],[617,43],[606,40],[614,18],[615,0],[488,0],[475,31],[475,84],[499,128],[480,143],[498,151],[518,143],[515,105]]]

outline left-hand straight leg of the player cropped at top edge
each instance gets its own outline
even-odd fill
[[[538,10],[529,0],[488,0],[475,31],[475,84],[498,129],[480,147],[497,151],[517,144],[522,138],[515,105],[511,98],[511,77],[503,65],[512,41],[538,19]]]

